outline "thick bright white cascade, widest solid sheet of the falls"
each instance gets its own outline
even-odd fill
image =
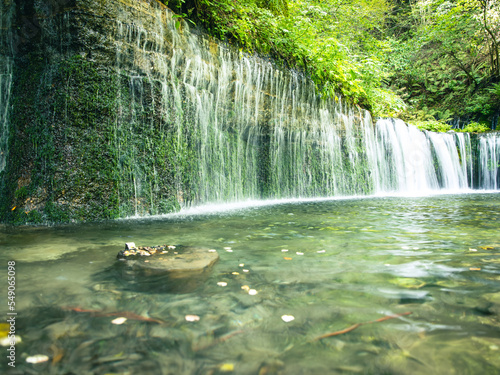
[[[376,124],[376,192],[426,193],[472,187],[469,134],[433,133],[401,120]]]

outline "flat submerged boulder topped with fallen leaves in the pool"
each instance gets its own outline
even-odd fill
[[[117,255],[122,277],[133,289],[185,293],[208,277],[219,259],[213,249],[182,245],[140,246],[133,242]]]

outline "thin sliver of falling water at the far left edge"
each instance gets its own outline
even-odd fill
[[[8,121],[14,56],[11,20],[14,4],[11,1],[4,1],[0,4],[0,11],[0,172],[2,172],[5,169],[8,153]]]

